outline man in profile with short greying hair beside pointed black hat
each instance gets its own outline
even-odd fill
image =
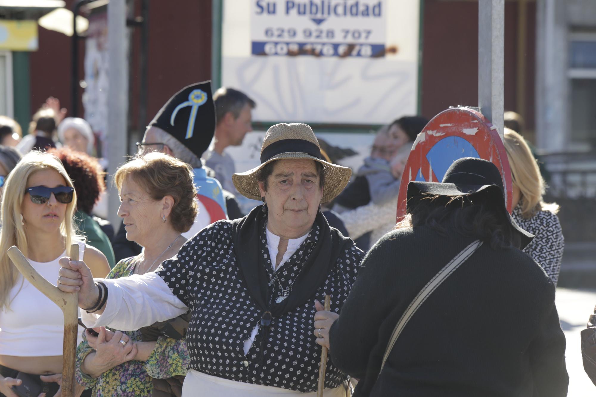
[[[215,178],[221,182],[224,189],[241,199],[232,183],[232,174],[236,172],[234,159],[225,153],[224,149],[228,146],[240,146],[246,133],[252,131],[251,111],[256,107],[256,103],[243,92],[229,87],[215,91],[213,101],[217,115],[215,139],[203,157],[206,165],[215,171]]]

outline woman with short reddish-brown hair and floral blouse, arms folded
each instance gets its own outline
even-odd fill
[[[197,215],[193,170],[175,157],[152,152],[121,166],[114,181],[122,201],[118,215],[124,220],[126,238],[144,250],[120,260],[107,278],[152,272],[178,252],[186,241],[181,233],[193,225]],[[148,338],[147,330],[98,330],[98,336],[86,331],[77,349],[77,380],[93,387],[93,395],[151,396],[156,395],[156,385],[166,389],[166,395],[176,395],[177,388],[181,389],[189,361],[184,340],[163,333],[151,333],[155,337]],[[116,334],[125,342],[130,338],[135,349],[123,354],[117,340],[110,343]]]

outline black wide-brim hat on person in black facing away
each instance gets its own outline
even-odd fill
[[[406,212],[410,212],[420,202],[421,198],[428,195],[477,196],[504,213],[505,219],[508,219],[521,239],[522,246],[520,249],[523,250],[534,238],[533,234],[522,229],[511,218],[505,204],[501,173],[488,160],[464,157],[455,160],[443,176],[442,182],[409,182]]]

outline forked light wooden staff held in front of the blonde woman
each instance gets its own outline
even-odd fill
[[[64,315],[64,339],[62,347],[62,395],[73,397],[75,395],[75,353],[79,317],[79,294],[67,293],[54,287],[42,277],[23,253],[12,246],[8,249],[8,257],[13,261],[18,271],[52,302],[62,310]],[[79,244],[70,246],[70,260],[79,260]]]

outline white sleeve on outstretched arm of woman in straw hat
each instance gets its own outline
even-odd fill
[[[108,287],[108,300],[100,316],[82,311],[81,318],[87,327],[104,325],[121,331],[135,331],[188,311],[155,272],[95,280],[103,281]]]

